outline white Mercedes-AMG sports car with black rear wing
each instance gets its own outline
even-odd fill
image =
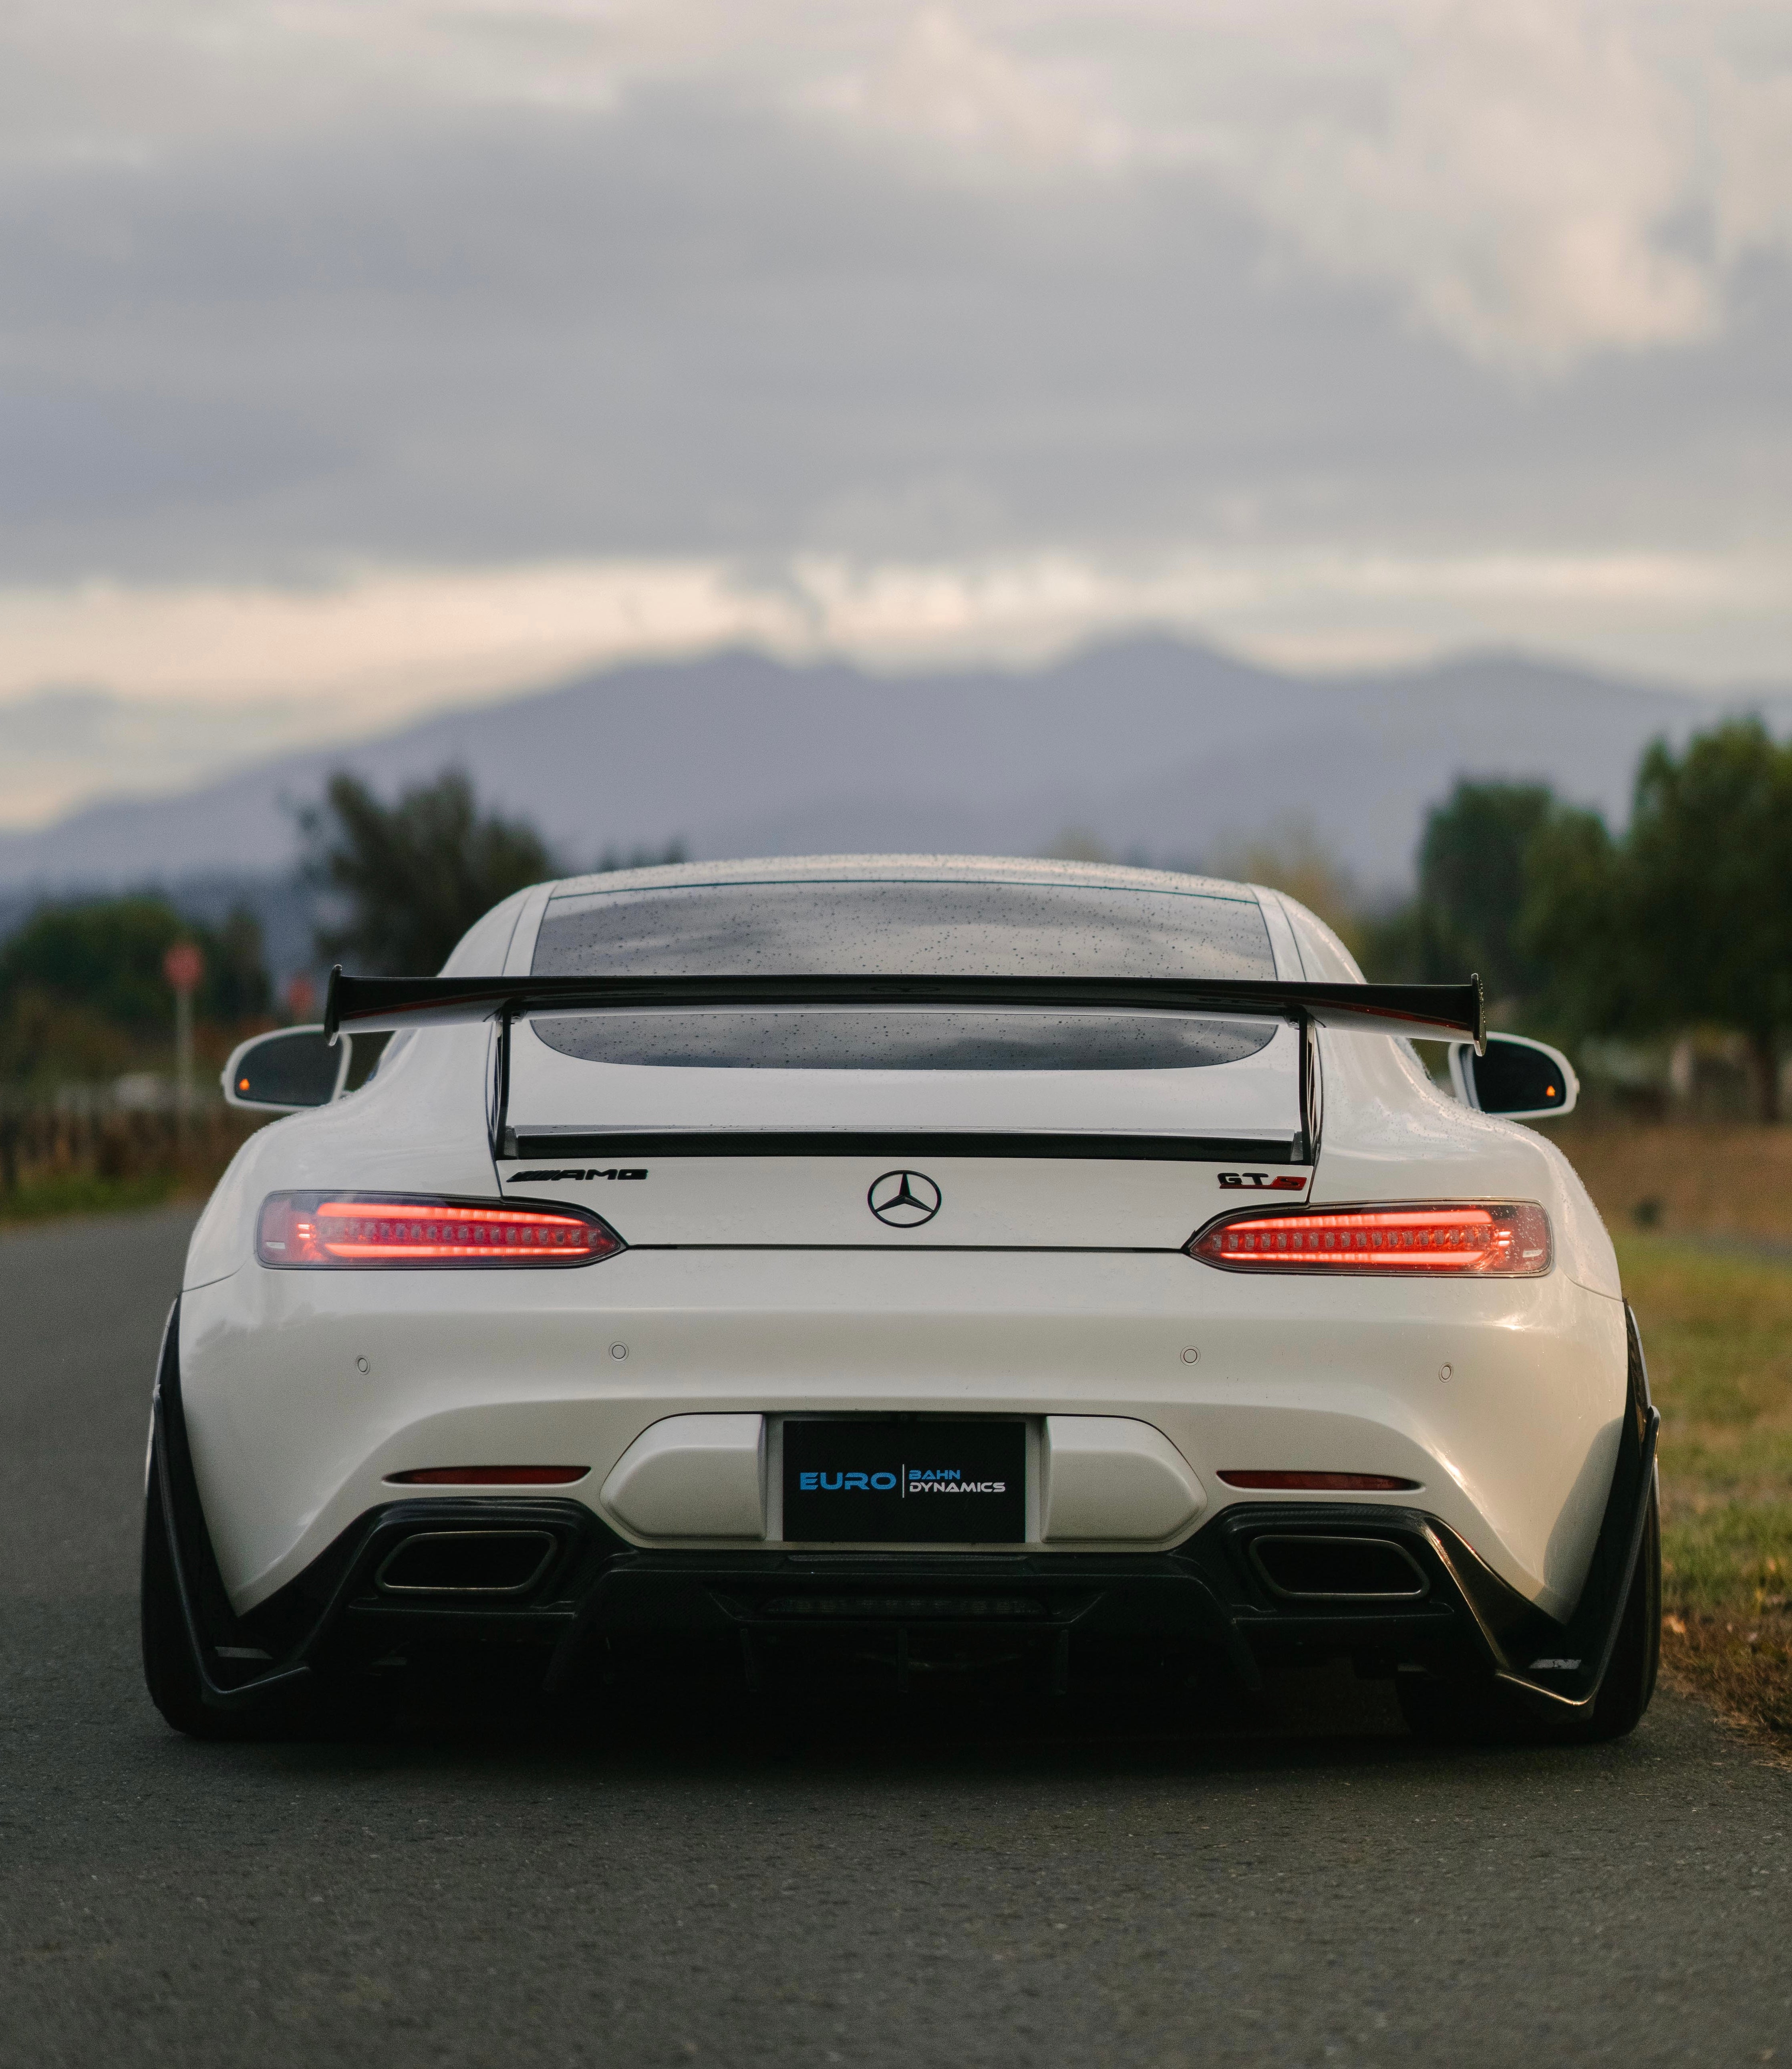
[[[1573,1074],[1277,892],[544,883],[441,977],[337,972],[226,1090],[292,1117],[157,1372],[143,1653],[184,1732],[492,1663],[1198,1717],[1347,1657],[1434,1736],[1649,1701],[1641,1343],[1566,1159],[1496,1117]]]

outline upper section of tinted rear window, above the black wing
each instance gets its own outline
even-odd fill
[[[691,883],[548,900],[538,977],[1275,977],[1256,898],[1026,881]]]

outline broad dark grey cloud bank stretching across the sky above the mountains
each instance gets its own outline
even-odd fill
[[[1548,387],[1186,168],[966,188],[706,89],[0,190],[10,579],[1165,538],[1746,536],[1784,269]]]

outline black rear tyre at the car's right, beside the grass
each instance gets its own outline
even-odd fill
[[[1492,1678],[1459,1682],[1401,1674],[1395,1682],[1401,1715],[1415,1738],[1432,1744],[1569,1744],[1589,1746],[1635,1732],[1655,1692],[1662,1663],[1662,1512],[1653,1490],[1631,1593],[1618,1618],[1612,1661],[1593,1707],[1566,1717],[1533,1709],[1515,1688]]]

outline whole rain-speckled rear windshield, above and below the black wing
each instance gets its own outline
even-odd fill
[[[542,977],[1275,977],[1250,894],[1026,881],[788,881],[579,892],[536,939]],[[722,1070],[1200,1070],[1273,1022],[1186,1012],[704,1008],[536,1016],[592,1063]]]

